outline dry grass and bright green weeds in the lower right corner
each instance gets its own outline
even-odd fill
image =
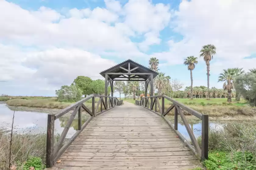
[[[198,138],[201,145],[201,137]],[[232,123],[210,129],[208,170],[256,169],[256,123]]]

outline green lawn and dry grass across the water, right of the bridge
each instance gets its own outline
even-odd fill
[[[256,110],[254,107],[251,107],[246,103],[242,103],[242,102],[245,102],[245,100],[238,101],[239,103],[234,102],[231,104],[222,102],[226,100],[224,98],[222,99],[217,98],[217,99],[210,99],[210,100],[207,100],[207,99],[200,99],[200,100],[174,99],[174,100],[179,101],[202,114],[208,114],[211,117],[214,117],[214,116],[222,117],[227,115],[228,116],[236,116],[236,115],[254,116],[255,110]],[[134,103],[133,99],[126,99],[126,101],[130,103]],[[207,102],[209,101],[210,103],[204,103],[204,101],[207,101]],[[159,103],[161,106],[162,100],[159,100]],[[165,110],[167,110],[171,104],[172,103],[169,100],[166,101],[165,99]],[[157,111],[160,113],[160,110],[158,107],[157,107]],[[190,115],[185,110],[183,110],[183,112],[185,115]],[[174,115],[174,110],[171,110],[169,112],[169,115]]]

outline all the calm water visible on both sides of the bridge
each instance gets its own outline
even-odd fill
[[[11,129],[12,126],[12,116],[13,110],[10,110],[9,107],[6,106],[5,103],[0,103],[0,128]],[[55,120],[55,133],[61,134],[66,123],[68,121],[68,117],[60,117]],[[86,118],[82,120],[82,124],[86,121]],[[210,127],[221,129],[223,124],[219,124],[216,122],[209,123]],[[193,133],[195,137],[201,136],[201,123],[190,124],[191,129],[193,129]],[[47,127],[47,114],[40,112],[31,112],[31,111],[15,111],[14,116],[14,131],[18,133],[26,133],[28,131],[32,131],[34,133],[39,133],[42,131],[46,131]],[[78,121],[74,119],[71,127],[69,128],[67,138],[73,136],[78,128]],[[190,140],[190,137],[187,133],[186,127],[184,124],[178,124],[178,131],[187,139]]]

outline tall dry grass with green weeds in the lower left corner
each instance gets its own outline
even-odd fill
[[[58,134],[54,138],[58,139]],[[10,134],[0,129],[0,169],[9,169]],[[11,165],[16,170],[27,170],[30,165],[37,170],[44,169],[46,155],[46,133],[26,134],[14,133],[12,135]],[[41,161],[41,164],[40,164]]]

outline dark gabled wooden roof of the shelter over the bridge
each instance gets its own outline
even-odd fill
[[[134,73],[134,74],[133,74]],[[158,73],[134,62],[133,60],[126,60],[116,66],[113,66],[107,70],[100,72],[101,76],[105,77],[108,74],[108,78],[112,80],[134,80],[134,79],[144,79],[147,80],[151,75],[155,78]]]

